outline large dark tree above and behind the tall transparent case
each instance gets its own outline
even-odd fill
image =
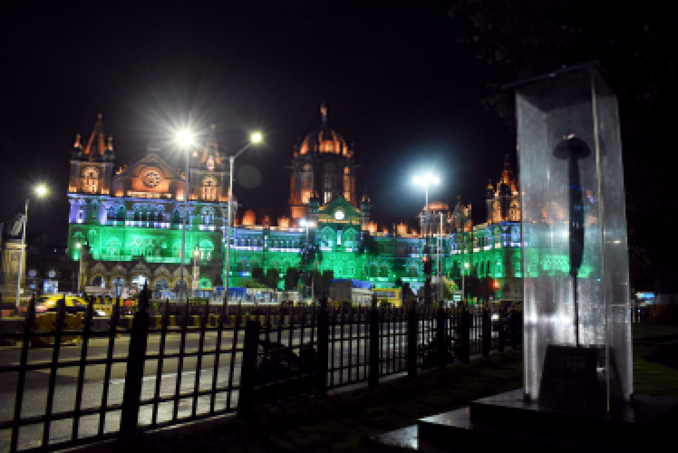
[[[632,288],[678,291],[673,168],[678,136],[675,3],[614,0],[456,0],[460,42],[492,68],[494,94],[482,102],[515,130],[513,93],[500,85],[563,65],[600,60],[619,98]],[[647,190],[649,187],[652,190]]]

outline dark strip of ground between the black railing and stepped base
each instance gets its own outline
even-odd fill
[[[370,437],[413,425],[424,416],[459,408],[479,397],[521,387],[522,351],[493,353],[417,378],[384,379],[338,389],[327,399],[300,397],[255,412],[251,420],[226,416],[141,435],[128,452],[398,452]],[[71,451],[109,453],[113,443]]]

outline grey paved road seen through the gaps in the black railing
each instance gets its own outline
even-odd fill
[[[430,328],[433,326],[426,326]],[[384,363],[382,372],[391,374],[405,369],[404,359],[393,359],[394,356],[404,355],[407,349],[406,337],[397,335],[405,332],[405,326],[398,323],[390,326],[383,326],[382,335],[387,336],[382,342],[382,357],[391,357],[391,361]],[[334,336],[330,331],[330,338],[334,341],[330,343],[330,366],[337,368],[339,366],[351,366],[351,375],[348,370],[336,370],[332,373],[330,382],[338,385],[341,382],[363,380],[366,376],[365,355],[367,343],[365,326],[353,326],[351,340],[348,339],[349,329],[344,326],[344,340],[341,338],[341,328],[334,328]],[[228,395],[229,382],[233,385],[239,384],[241,352],[232,353],[235,345],[236,349],[242,348],[243,332],[239,331],[237,338],[234,339],[234,332],[226,330],[222,333],[222,342],[219,366],[216,370],[217,389],[224,391],[216,394],[215,408],[222,410],[228,404],[229,408],[236,408],[238,402],[238,391],[231,391],[230,399]],[[264,335],[262,334],[262,338]],[[311,338],[311,329],[304,332],[303,342],[308,342]],[[277,334],[272,332],[269,340],[278,340]],[[281,332],[281,342],[290,344],[290,331]],[[292,345],[298,347],[302,342],[300,330],[295,330],[292,334]],[[334,344],[334,348],[332,347]],[[340,347],[343,344],[343,350]],[[129,336],[124,335],[115,338],[114,356],[124,358],[129,349]],[[150,335],[148,337],[147,351],[149,354],[158,353],[160,347],[159,335]],[[188,333],[184,351],[196,352],[199,347],[199,334]],[[182,374],[180,376],[180,393],[193,393],[195,382],[199,377],[199,389],[201,391],[210,391],[212,389],[212,380],[214,377],[214,351],[216,347],[216,332],[207,332],[203,344],[203,355],[201,370],[196,370],[197,358],[185,357],[183,361]],[[94,338],[89,342],[87,357],[90,359],[105,359],[108,349],[108,338]],[[180,333],[173,332],[167,335],[165,342],[165,354],[178,353],[180,349]],[[351,353],[349,354],[349,350]],[[402,352],[401,352],[402,351]],[[210,354],[212,352],[212,354]],[[79,359],[81,355],[81,346],[64,346],[60,349],[60,361],[68,359]],[[17,364],[20,358],[20,347],[0,347],[0,365]],[[40,361],[48,363],[52,359],[52,348],[31,348],[29,350],[29,361]],[[233,361],[233,363],[231,363]],[[148,359],[144,368],[144,381],[142,385],[142,399],[151,399],[155,396],[157,385],[157,360]],[[231,370],[233,366],[233,370]],[[102,403],[104,390],[104,365],[87,366],[85,372],[85,384],[83,387],[83,408],[98,408]],[[172,396],[176,394],[176,385],[178,378],[178,359],[165,359],[160,376],[159,395]],[[56,392],[54,396],[53,412],[64,412],[73,410],[75,407],[75,394],[77,389],[77,376],[79,368],[77,366],[62,368],[59,370],[56,379]],[[115,364],[111,369],[111,381],[108,387],[108,404],[119,404],[122,402],[124,391],[125,363]],[[29,416],[39,416],[45,413],[45,402],[47,399],[47,387],[49,382],[49,370],[29,371],[26,373],[24,403],[22,418]],[[16,395],[16,373],[0,374],[0,420],[11,420],[14,411],[14,399]],[[147,404],[140,408],[140,420],[142,424],[151,423],[153,405]],[[197,398],[197,414],[206,414],[210,410],[210,395]],[[188,396],[178,402],[177,418],[186,418],[191,416],[193,411],[193,397]],[[157,421],[172,420],[174,412],[174,402],[161,403],[158,407]],[[52,424],[50,432],[50,441],[64,441],[71,438],[72,420],[63,420]],[[119,429],[119,412],[108,412],[106,415],[106,432],[117,431]],[[79,433],[83,437],[95,435],[98,432],[98,416],[87,416],[81,419]],[[22,429],[20,435],[20,448],[30,446],[39,446],[42,437],[42,425],[35,425]],[[9,433],[0,433],[0,450],[6,450],[9,442]]]

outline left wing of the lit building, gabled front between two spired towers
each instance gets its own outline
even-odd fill
[[[115,170],[113,139],[106,140],[99,115],[85,144],[71,150],[68,180],[68,253],[80,262],[80,288],[119,288],[148,281],[160,293],[176,288],[182,243],[182,203],[188,193],[186,275],[189,289],[221,284],[222,237],[227,172],[214,140],[190,156],[188,190],[184,175],[149,146],[136,163]]]

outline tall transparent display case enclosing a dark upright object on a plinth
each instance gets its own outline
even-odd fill
[[[617,100],[596,64],[516,87],[525,399],[612,410],[633,393],[629,258]],[[525,268],[525,265],[528,265]]]

